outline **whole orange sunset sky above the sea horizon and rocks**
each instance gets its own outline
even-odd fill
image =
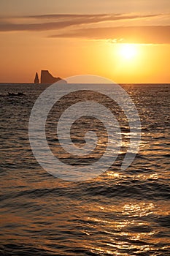
[[[1,0],[0,83],[100,75],[170,83],[169,0]]]

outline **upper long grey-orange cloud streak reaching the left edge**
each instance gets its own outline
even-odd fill
[[[136,14],[96,14],[96,15],[32,15],[24,17],[2,17],[0,31],[49,31],[66,29],[83,25],[106,23],[118,20],[136,20],[144,18],[155,18],[156,15]]]

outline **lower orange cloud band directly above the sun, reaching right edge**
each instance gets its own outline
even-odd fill
[[[112,42],[144,44],[170,43],[170,26],[126,26],[74,29],[50,37],[80,37],[85,39],[109,39]]]

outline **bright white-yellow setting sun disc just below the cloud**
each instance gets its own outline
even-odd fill
[[[132,60],[136,57],[137,49],[134,44],[121,44],[119,46],[119,55],[122,59]]]

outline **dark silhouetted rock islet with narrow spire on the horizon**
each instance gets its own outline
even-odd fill
[[[42,70],[42,72],[41,72],[41,82],[40,83],[52,84],[52,83],[56,83],[60,80],[62,83],[66,83],[66,80],[63,80],[62,78],[54,78],[53,75],[51,75],[48,70]],[[35,75],[34,83],[39,83],[39,75],[37,72]]]

